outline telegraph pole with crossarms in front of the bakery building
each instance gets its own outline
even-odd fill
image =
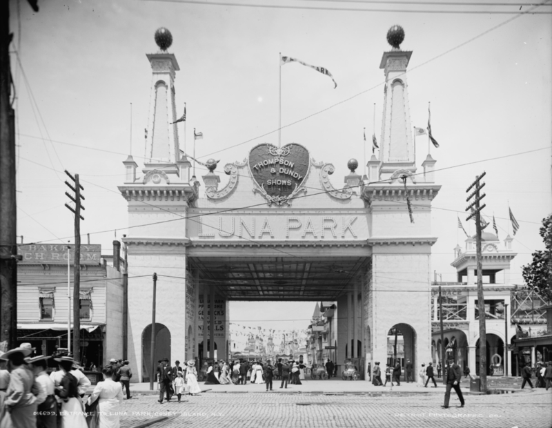
[[[79,174],[75,174],[75,177],[73,177],[67,170],[65,173],[75,182],[75,187],[65,182],[65,184],[75,192],[75,197],[72,197],[72,195],[67,192],[65,193],[69,199],[75,203],[75,209],[68,204],[65,204],[65,206],[75,214],[75,260],[73,260],[73,358],[78,362],[81,360],[81,220],[84,220],[84,217],[81,215],[81,209],[84,209],[81,205],[81,200],[84,200],[81,191],[83,191],[84,188],[79,183]]]

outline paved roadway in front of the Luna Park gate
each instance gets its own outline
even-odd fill
[[[139,392],[135,387],[132,399],[124,400],[121,405],[121,428],[135,427],[158,416],[169,416],[169,419],[152,425],[154,428],[552,427],[552,390],[489,396],[466,393],[463,409],[457,407],[460,402],[452,392],[451,407],[442,409],[442,387],[416,389],[408,385],[391,391],[389,387],[385,390],[368,387],[367,382],[307,381],[304,384],[292,385],[287,391],[275,385],[275,391],[267,393],[264,385],[236,386],[224,392],[219,391],[219,386],[201,383],[201,389],[212,389],[199,396],[183,397],[180,404],[171,401],[163,405],[157,402],[157,395]],[[324,393],[315,392],[316,389],[324,389]]]

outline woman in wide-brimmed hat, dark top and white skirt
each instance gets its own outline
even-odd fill
[[[55,390],[56,396],[61,398],[61,426],[63,428],[88,428],[84,409],[79,396],[79,381],[70,373],[75,360],[71,357],[54,358],[63,371],[63,378]]]

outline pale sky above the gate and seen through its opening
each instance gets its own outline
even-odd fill
[[[521,266],[544,248],[538,230],[552,212],[552,14],[516,14],[519,2],[501,8],[332,0],[232,3],[278,8],[206,3],[51,0],[40,1],[35,13],[25,0],[10,0],[17,235],[24,242],[72,242],[72,213],[63,206],[65,169],[79,173],[85,188],[81,233],[90,233],[90,242],[102,244],[106,254],[112,240],[126,233],[126,201],[117,186],[131,150],[143,165],[152,108],[146,53],[157,51],[157,28],[172,33],[169,52],[180,66],[177,110],[187,105],[186,148],[191,150],[193,128],[202,132],[196,150],[203,161],[241,161],[256,144],[277,143],[279,52],[330,70],[335,89],[331,79],[299,64],[282,67],[282,144],[303,144],[317,161],[333,162],[338,187],[349,172],[348,159],[358,159],[357,172],[364,173],[372,133],[380,139],[379,66],[382,52],[390,50],[386,32],[399,24],[406,33],[402,49],[413,50],[407,75],[411,123],[426,126],[431,101],[433,136],[440,143],[431,148],[435,180],[442,185],[433,200],[438,240],[432,269],[443,281],[455,281],[453,249],[465,239],[457,216],[473,235],[475,224],[465,222],[465,191],[486,171],[484,215],[495,215],[501,240],[512,234],[509,207],[520,224],[511,282],[522,284]],[[358,10],[363,8],[385,11]],[[487,13],[499,11],[513,13]],[[183,146],[182,128],[179,134]],[[421,171],[425,137],[417,139],[416,150]],[[221,186],[227,179],[221,175]],[[305,329],[314,305],[232,302],[230,321]]]

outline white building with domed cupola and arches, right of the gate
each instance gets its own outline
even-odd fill
[[[518,376],[525,364],[542,361],[544,347],[515,348],[517,338],[539,337],[546,333],[544,300],[510,278],[510,265],[517,255],[513,238],[500,241],[497,235],[482,232],[482,279],[486,324],[486,365],[491,376]],[[479,375],[480,325],[477,300],[477,254],[475,236],[466,239],[464,248],[454,249],[451,263],[456,282],[432,284],[432,358],[441,361],[442,343],[446,356],[453,356],[462,369]],[[440,329],[441,289],[443,331]],[[441,339],[443,336],[443,341]]]

